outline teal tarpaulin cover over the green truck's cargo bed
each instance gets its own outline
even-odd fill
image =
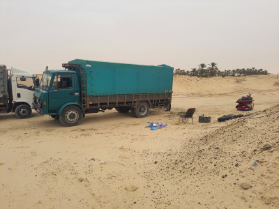
[[[75,59],[86,72],[87,95],[166,93],[172,91],[173,68]]]

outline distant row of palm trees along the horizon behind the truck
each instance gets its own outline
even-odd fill
[[[208,67],[206,64],[201,63],[197,65],[198,68],[192,68],[191,70],[181,70],[180,68],[174,71],[174,75],[189,75],[195,77],[215,77],[215,76],[246,76],[246,75],[268,75],[267,70],[256,68],[242,68],[235,70],[220,71],[217,67],[217,63],[210,63]]]

